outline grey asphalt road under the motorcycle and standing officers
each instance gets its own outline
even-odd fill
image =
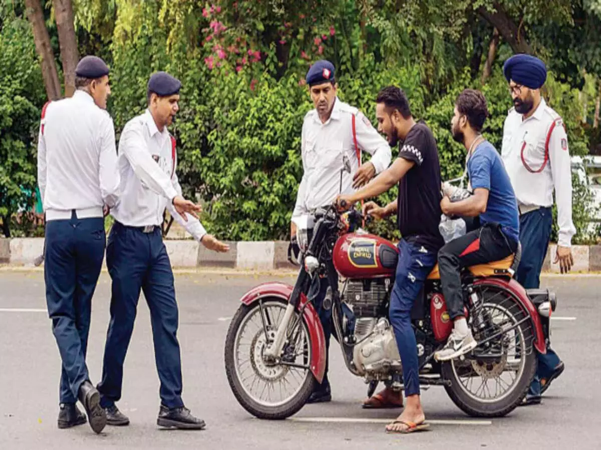
[[[45,312],[41,272],[0,271],[0,449],[599,449],[601,448],[601,277],[548,277],[559,305],[554,348],[566,364],[541,406],[518,408],[502,419],[476,421],[442,388],[423,392],[430,431],[406,436],[384,432],[400,410],[362,410],[364,383],[346,371],[333,341],[333,401],[305,406],[287,421],[252,418],[230,391],[224,370],[229,319],[242,294],[268,278],[206,273],[177,275],[183,399],[207,422],[204,431],[160,430],[159,380],[148,307],[142,298],[118,403],[129,427],[106,427],[99,436],[82,425],[58,430],[60,362]],[[293,278],[278,278],[293,283]],[[88,367],[102,372],[109,319],[110,279],[102,274],[93,303]]]

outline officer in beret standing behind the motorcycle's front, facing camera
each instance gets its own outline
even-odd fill
[[[351,173],[344,172],[342,193],[350,194],[354,188],[370,181],[374,175],[385,170],[392,152],[386,140],[380,136],[359,110],[343,103],[337,97],[334,65],[329,61],[317,61],[305,77],[315,109],[305,116],[302,126],[301,152],[304,173],[292,214],[291,238],[296,235],[294,220],[320,206],[331,205],[340,193],[340,171],[344,167],[343,155],[349,159]],[[360,164],[361,150],[372,155],[371,160]],[[322,278],[320,293],[314,301],[329,349],[332,311],[322,308],[328,281]],[[329,359],[329,358],[328,358]],[[321,385],[311,394],[308,403],[331,401],[328,382],[328,362]]]

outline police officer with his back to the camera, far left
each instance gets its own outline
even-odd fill
[[[38,184],[46,213],[46,304],[63,361],[58,427],[84,424],[100,433],[106,415],[85,355],[91,301],[105,256],[103,208],[117,202],[115,130],[106,112],[109,68],[96,56],[76,67],[72,98],[44,106],[38,138]]]

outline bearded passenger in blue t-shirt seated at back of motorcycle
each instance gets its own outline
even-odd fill
[[[453,139],[468,149],[468,176],[472,196],[451,202],[444,196],[442,212],[447,216],[478,217],[480,228],[448,242],[438,252],[442,293],[453,319],[453,332],[447,345],[435,353],[438,361],[457,358],[477,345],[463,313],[460,270],[515,253],[519,241],[517,200],[501,157],[482,137],[488,116],[486,99],[480,91],[466,89],[455,102],[451,120]]]

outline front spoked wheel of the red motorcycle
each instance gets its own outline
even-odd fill
[[[230,388],[242,407],[261,419],[293,415],[313,392],[310,337],[305,322],[297,320],[298,314],[290,322],[279,360],[264,357],[287,305],[277,298],[242,305],[227,333],[225,371]]]

